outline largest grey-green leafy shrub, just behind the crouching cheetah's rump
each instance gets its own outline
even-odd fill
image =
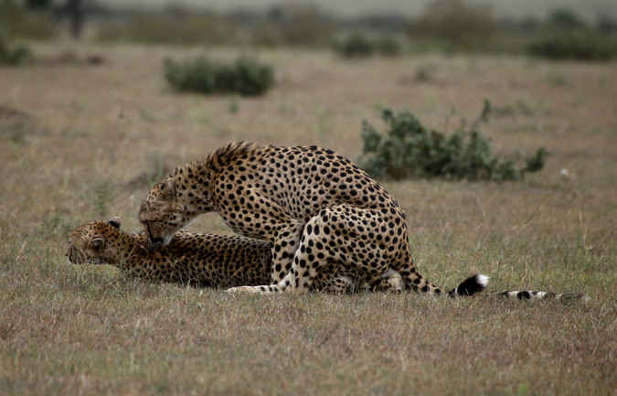
[[[490,143],[477,124],[487,121],[490,102],[485,102],[481,117],[469,131],[463,128],[451,135],[429,130],[408,111],[384,110],[382,120],[390,130],[378,132],[367,121],[362,124],[364,147],[360,166],[373,177],[393,179],[442,177],[452,180],[519,180],[527,172],[537,172],[548,155],[541,147],[526,158],[526,166],[516,167],[512,160],[491,157]]]

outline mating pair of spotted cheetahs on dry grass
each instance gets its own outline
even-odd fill
[[[181,230],[210,211],[244,238]],[[488,282],[476,274],[446,292],[427,281],[411,259],[399,203],[348,159],[315,146],[221,147],[154,185],[139,219],[141,234],[123,233],[118,219],[81,226],[71,234],[69,259],[121,260],[138,276],[251,293],[366,284],[454,296],[482,292]]]

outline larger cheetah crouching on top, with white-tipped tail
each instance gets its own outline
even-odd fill
[[[328,265],[361,273],[374,290],[392,290],[392,276],[400,277],[402,289],[450,296],[477,294],[488,282],[475,274],[447,292],[431,284],[411,259],[399,203],[329,149],[228,144],[155,184],[139,219],[156,250],[211,211],[239,235],[271,243],[270,283],[231,292],[304,293]]]

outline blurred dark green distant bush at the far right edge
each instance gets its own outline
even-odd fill
[[[540,34],[527,51],[548,59],[607,60],[617,58],[617,37],[588,28],[556,28]]]

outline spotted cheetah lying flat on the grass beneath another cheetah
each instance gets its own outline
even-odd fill
[[[146,249],[144,231],[121,230],[122,219],[82,224],[69,234],[69,262],[111,264],[146,281],[210,287],[267,284],[271,279],[271,246],[267,241],[179,230],[155,252]],[[392,279],[397,279],[392,276]],[[329,266],[317,275],[312,290],[352,293],[358,276]]]

